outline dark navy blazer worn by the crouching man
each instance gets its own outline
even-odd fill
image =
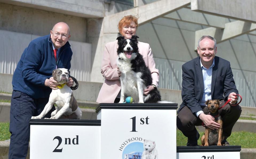
[[[203,72],[200,65],[200,57],[192,59],[182,65],[182,104],[178,112],[187,106],[192,113],[202,110],[199,102],[202,100],[204,91]],[[212,68],[211,98],[224,99],[231,92],[238,94],[233,79],[230,62],[220,57],[214,57]]]

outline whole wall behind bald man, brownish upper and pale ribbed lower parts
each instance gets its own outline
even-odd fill
[[[29,42],[48,35],[57,22],[70,27],[73,51],[71,74],[90,81],[92,45],[86,42],[87,19],[34,8],[0,3],[0,73],[13,74]]]

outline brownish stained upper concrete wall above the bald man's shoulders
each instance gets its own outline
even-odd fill
[[[50,34],[53,25],[58,22],[69,25],[70,40],[86,42],[85,18],[0,3],[0,30],[44,36]]]

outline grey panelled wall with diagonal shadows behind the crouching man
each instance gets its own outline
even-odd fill
[[[233,19],[226,18],[225,21],[231,22]],[[194,51],[195,31],[206,27],[166,18],[158,18],[139,26],[139,40],[149,43],[152,48],[156,68],[160,72],[160,88],[181,90],[181,66],[198,56]],[[238,36],[217,44],[217,48],[216,56],[231,63],[237,89],[243,97],[242,105],[255,107],[256,36]]]

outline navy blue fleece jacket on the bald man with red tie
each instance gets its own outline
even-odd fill
[[[54,58],[50,35],[32,40],[24,50],[13,74],[13,90],[31,98],[49,98],[51,88],[44,85],[56,68],[70,69],[72,50],[69,42],[61,47],[57,62]]]

